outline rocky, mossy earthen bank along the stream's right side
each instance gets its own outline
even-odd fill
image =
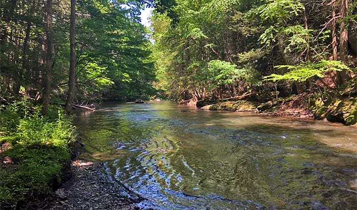
[[[224,101],[201,107],[202,110],[255,112],[263,115],[293,116],[339,122],[354,125],[357,122],[357,97],[355,89],[349,89],[326,100],[312,94],[299,94],[276,98],[267,102],[242,99]]]

